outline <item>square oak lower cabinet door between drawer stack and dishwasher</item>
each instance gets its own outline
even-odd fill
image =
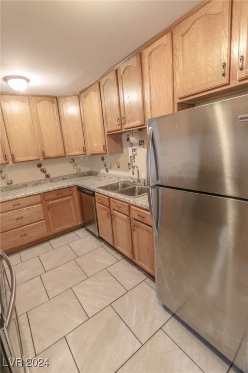
[[[46,205],[52,234],[77,225],[73,196],[49,201]]]

